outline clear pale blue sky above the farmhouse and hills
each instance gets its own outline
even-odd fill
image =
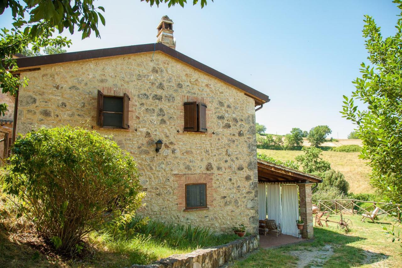
[[[334,138],[346,138],[354,128],[339,111],[360,63],[368,62],[363,15],[373,16],[388,36],[399,14],[391,0],[209,0],[203,9],[96,2],[106,11],[102,38],[73,35],[68,52],[153,43],[160,18],[168,15],[179,52],[269,95],[271,102],[256,113],[267,132],[328,125]],[[9,27],[9,18],[10,10],[0,16],[0,26]]]

